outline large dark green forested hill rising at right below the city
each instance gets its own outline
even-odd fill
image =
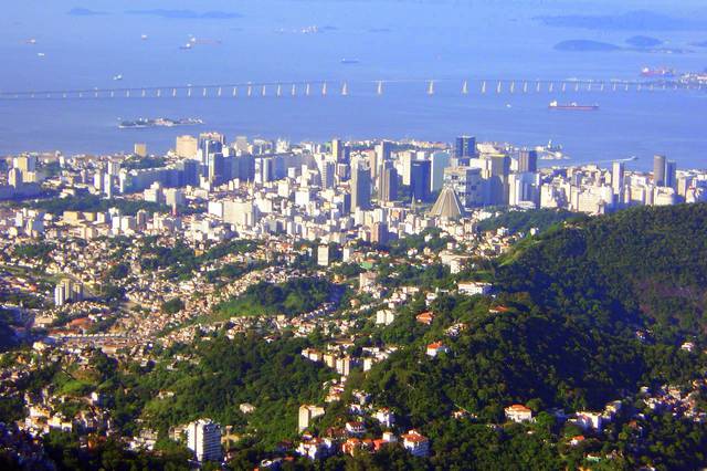
[[[573,221],[528,239],[495,263],[494,297],[441,296],[430,327],[415,325],[414,311],[387,327],[381,338],[410,343],[363,387],[407,425],[432,430],[436,463],[449,465],[455,460],[441,447],[458,442],[454,411],[503,421],[503,408],[518,402],[597,410],[642,386],[688,384],[705,371],[706,234],[707,206],[695,205]],[[466,326],[456,337],[447,335],[455,323]],[[450,352],[429,358],[425,345],[440,339]],[[680,348],[687,341],[693,352]],[[705,437],[696,431],[679,446],[697,450]]]

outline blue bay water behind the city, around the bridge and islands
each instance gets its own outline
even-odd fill
[[[108,1],[27,0],[6,6],[0,18],[0,91],[113,86],[167,86],[236,82],[330,81],[323,96],[245,98],[115,98],[0,101],[0,155],[24,150],[113,153],[145,142],[161,153],[184,133],[214,129],[292,140],[415,137],[479,139],[564,146],[573,161],[637,156],[650,168],[655,153],[680,168],[707,167],[705,92],[527,95],[460,93],[465,78],[634,80],[642,66],[679,71],[707,67],[707,31],[601,31],[548,28],[542,14],[621,13],[650,9],[705,18],[699,1],[622,2],[568,0],[258,0]],[[15,4],[17,3],[17,4]],[[72,9],[91,11],[68,14]],[[128,10],[239,13],[229,19],[175,19]],[[318,33],[300,31],[316,25]],[[141,34],[148,39],[143,41]],[[556,43],[588,39],[623,44],[635,34],[664,40],[689,54],[635,51],[558,52]],[[192,50],[180,50],[190,35]],[[36,44],[28,44],[34,38]],[[43,57],[38,53],[44,53]],[[357,64],[342,64],[341,59]],[[123,74],[122,82],[113,77]],[[428,96],[424,80],[437,82]],[[386,85],[376,80],[416,80]],[[350,95],[334,93],[342,81]],[[531,85],[532,88],[532,85]],[[489,85],[489,91],[492,85]],[[288,88],[285,88],[288,92]],[[243,90],[240,91],[243,95]],[[256,91],[257,92],[257,91]],[[552,112],[551,100],[597,103],[599,112]],[[119,118],[199,117],[203,126],[120,130]]]

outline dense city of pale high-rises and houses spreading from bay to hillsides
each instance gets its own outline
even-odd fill
[[[291,144],[245,137],[228,142],[222,134],[204,133],[179,136],[163,156],[136,144],[126,155],[8,157],[0,161],[6,176],[0,181],[0,292],[2,310],[12,317],[13,341],[28,348],[0,369],[0,394],[24,407],[22,419],[3,426],[0,440],[25,462],[39,462],[36,438],[52,429],[86,440],[118,433],[113,401],[101,390],[22,388],[49,364],[87,370],[99,353],[148,367],[163,362],[158,349],[211,335],[255,333],[272,343],[283,335],[318,333],[325,341],[300,355],[327,368],[333,379],[317,385],[324,391],[319,404],[292,410],[297,428],[289,432],[298,438],[283,443],[261,468],[276,468],[289,456],[315,460],[373,453],[391,444],[428,456],[430,439],[399,427],[388,404],[366,390],[345,394],[351,374],[366,374],[399,348],[355,347],[363,326],[391,325],[413,299],[422,299],[424,307],[414,313],[414,322],[431,325],[436,314],[430,306],[443,294],[432,286],[383,283],[381,263],[441,264],[460,275],[455,292],[488,297],[489,315],[503,315],[508,307],[493,301],[493,283],[471,273],[478,260],[503,254],[526,233],[505,227],[482,230],[484,221],[542,209],[603,214],[632,206],[707,201],[707,171],[677,169],[662,155],[654,157],[652,172],[627,170],[623,160],[609,168],[538,166],[558,155],[557,149],[477,143],[467,136],[452,145]],[[394,258],[386,250],[409,238],[431,243],[405,245]],[[347,274],[344,266],[356,270]],[[239,304],[235,312],[228,307],[255,285],[323,280],[347,286],[346,292],[331,290],[304,312],[251,315],[238,312]],[[447,338],[466,328],[454,324],[429,343],[425,360],[449,353]],[[176,355],[166,368],[192,360]],[[172,395],[162,390],[155,400],[169,401]],[[640,395],[652,409],[704,419],[689,393],[671,385]],[[317,419],[344,398],[342,426],[315,433]],[[600,435],[624,399],[604,410],[553,414],[584,431],[571,438],[576,446]],[[243,402],[239,414],[247,422],[255,408]],[[518,404],[508,404],[504,412],[516,422],[530,422],[536,415]],[[464,409],[455,415],[460,420],[473,416]],[[140,423],[119,439],[129,449],[151,450],[157,432]],[[201,417],[172,425],[169,438],[191,450],[194,463],[221,462],[247,433],[247,426]]]

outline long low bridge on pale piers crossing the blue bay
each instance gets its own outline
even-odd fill
[[[397,85],[416,87],[420,93],[435,95],[440,87],[445,93],[460,95],[487,94],[564,94],[619,93],[707,90],[705,83],[685,83],[675,80],[513,80],[513,78],[431,78],[342,81],[314,80],[292,82],[244,82],[204,85],[125,86],[108,88],[0,91],[0,100],[109,100],[109,98],[238,98],[238,97],[296,97],[348,96],[350,94],[383,95]]]

